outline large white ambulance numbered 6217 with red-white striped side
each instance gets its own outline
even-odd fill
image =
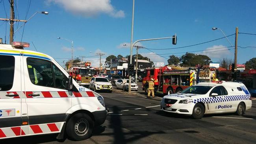
[[[79,86],[50,56],[0,44],[0,139],[64,133],[84,140],[106,120],[102,96]]]

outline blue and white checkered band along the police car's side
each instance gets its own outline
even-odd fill
[[[228,101],[249,100],[249,99],[250,99],[250,94],[249,95],[216,96],[216,97],[209,97],[209,98],[198,98],[193,101],[194,101],[194,103],[198,103],[198,102],[217,103],[217,102],[228,102]]]

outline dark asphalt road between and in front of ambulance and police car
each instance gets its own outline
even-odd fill
[[[255,144],[256,100],[244,116],[235,114],[205,115],[200,120],[191,116],[163,113],[161,98],[141,94],[101,93],[109,107],[107,120],[95,128],[88,140],[64,144]],[[56,135],[11,138],[0,144],[15,142],[59,144]]]

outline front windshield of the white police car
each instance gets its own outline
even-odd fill
[[[188,87],[185,90],[182,90],[180,93],[186,94],[206,94],[212,87],[210,86],[202,86],[202,85],[193,85]]]

